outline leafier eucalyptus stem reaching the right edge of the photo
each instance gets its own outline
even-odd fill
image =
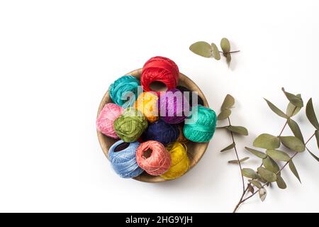
[[[276,182],[277,186],[280,189],[286,189],[286,183],[284,182],[284,179],[281,177],[281,172],[287,165],[289,166],[289,169],[291,170],[293,175],[295,175],[298,181],[301,182],[301,179],[296,170],[296,166],[293,163],[293,158],[295,158],[296,155],[298,155],[299,153],[302,153],[304,150],[308,150],[308,153],[310,153],[310,155],[319,162],[319,158],[313,153],[311,153],[307,147],[307,144],[310,142],[310,140],[313,137],[315,137],[317,139],[317,144],[319,148],[319,123],[317,117],[315,116],[312,99],[308,101],[308,104],[306,106],[306,116],[310,123],[315,127],[315,132],[305,142],[305,140],[303,139],[303,134],[301,133],[301,130],[298,126],[298,123],[296,123],[296,121],[293,121],[292,119],[292,117],[296,116],[296,114],[298,114],[298,112],[301,111],[301,109],[303,108],[303,99],[301,98],[300,94],[291,94],[289,92],[286,92],[284,88],[282,89],[282,91],[284,92],[286,98],[289,100],[286,113],[284,113],[284,111],[281,111],[278,107],[272,104],[271,101],[268,101],[267,99],[265,99],[265,101],[267,102],[269,108],[272,109],[272,111],[274,111],[275,114],[286,119],[284,127],[281,129],[279,135],[277,136],[270,135],[268,133],[262,133],[254,140],[253,146],[255,148],[263,148],[265,149],[265,152],[256,150],[254,148],[245,147],[245,149],[252,155],[259,157],[262,160],[262,163],[261,165],[259,165],[257,170],[252,170],[250,168],[242,168],[242,166],[240,165],[243,190],[242,196],[240,197],[240,200],[235,206],[233,212],[237,211],[237,209],[242,203],[247,201],[247,199],[252,198],[252,196],[254,196],[257,193],[259,194],[259,198],[262,201],[264,201],[264,199],[266,199],[267,196],[266,187],[274,182]],[[221,116],[223,116],[222,113],[223,109],[220,113]],[[223,120],[223,118],[220,118],[220,120]],[[284,129],[286,128],[286,126],[289,126],[293,135],[282,135],[284,133]],[[281,145],[286,147],[288,152],[292,153],[292,155],[289,155],[289,153],[286,153],[283,150],[279,150]],[[240,164],[240,158],[237,155],[237,150],[236,156],[237,162],[231,163]],[[247,159],[248,158],[245,157],[242,160]],[[281,163],[283,164],[281,165]],[[281,167],[279,167],[279,165],[281,165]],[[244,177],[248,179],[247,187],[245,187],[246,184]]]

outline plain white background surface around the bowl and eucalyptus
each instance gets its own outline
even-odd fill
[[[96,111],[109,84],[155,55],[169,57],[203,90],[216,112],[236,98],[232,121],[240,156],[260,133],[279,134],[281,87],[312,96],[319,115],[319,1],[0,1],[0,211],[229,212],[240,197],[230,136],[217,131],[201,162],[162,184],[121,179],[96,136]],[[194,55],[198,40],[230,39],[230,70]],[[314,129],[296,118],[305,138]],[[284,135],[289,135],[285,131]],[[309,145],[319,155],[315,140]],[[302,184],[269,189],[240,212],[319,211],[319,163],[296,157]],[[252,158],[245,167],[257,167]]]

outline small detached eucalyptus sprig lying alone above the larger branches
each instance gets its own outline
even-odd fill
[[[230,61],[232,60],[231,54],[234,52],[240,52],[240,50],[230,51],[230,42],[228,38],[222,38],[220,40],[220,48],[223,51],[218,50],[218,47],[215,43],[211,43],[211,45],[205,41],[199,41],[193,43],[189,50],[194,52],[196,55],[200,55],[202,57],[213,57],[216,60],[220,60],[220,53],[226,57],[226,62],[228,67],[230,65]]]

